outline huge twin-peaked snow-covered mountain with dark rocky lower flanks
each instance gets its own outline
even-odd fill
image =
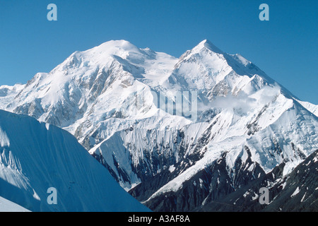
[[[72,133],[153,210],[194,210],[283,162],[285,177],[318,149],[317,105],[207,40],[179,59],[124,40],[74,52],[1,86],[0,107]]]

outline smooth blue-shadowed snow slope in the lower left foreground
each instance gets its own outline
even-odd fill
[[[57,189],[56,205],[47,203],[50,187]],[[71,134],[2,110],[0,196],[32,211],[148,210]]]

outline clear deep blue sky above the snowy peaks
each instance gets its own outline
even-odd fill
[[[57,21],[47,5],[57,5]],[[269,21],[259,5],[269,5]],[[0,0],[0,85],[26,83],[76,50],[128,40],[179,57],[208,39],[318,104],[317,0]]]

